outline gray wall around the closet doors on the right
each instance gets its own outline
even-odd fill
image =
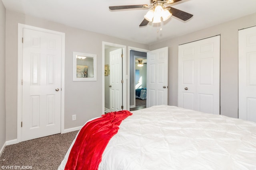
[[[178,105],[178,45],[220,34],[220,113],[238,117],[238,29],[256,25],[256,13],[150,45],[169,47],[168,105]]]

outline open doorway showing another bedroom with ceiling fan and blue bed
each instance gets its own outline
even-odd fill
[[[147,53],[130,50],[130,111],[146,108]]]

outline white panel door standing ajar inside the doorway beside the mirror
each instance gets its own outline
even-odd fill
[[[110,111],[122,110],[122,49],[110,51]]]

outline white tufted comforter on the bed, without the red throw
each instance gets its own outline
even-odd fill
[[[254,122],[166,105],[131,112],[108,141],[96,169],[256,170]]]

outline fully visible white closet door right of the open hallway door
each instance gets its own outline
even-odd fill
[[[220,114],[220,36],[179,45],[178,106]]]

